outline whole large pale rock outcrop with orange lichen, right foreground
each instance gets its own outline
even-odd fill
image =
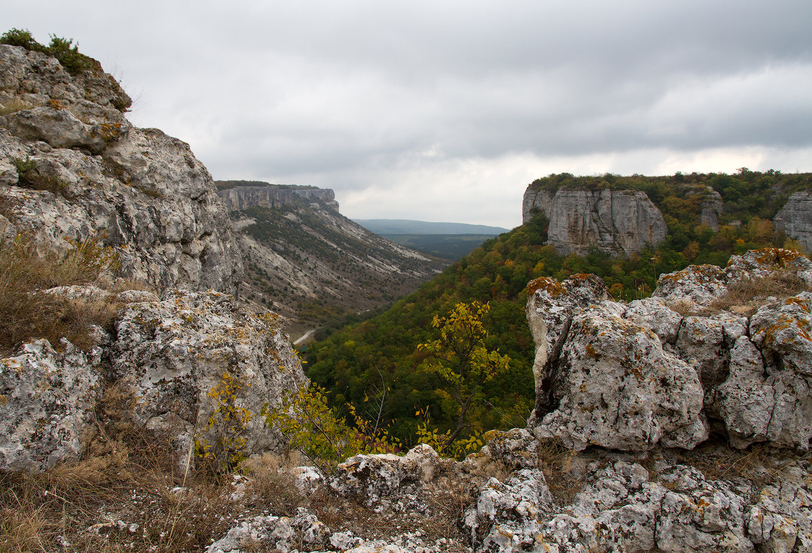
[[[807,450],[812,294],[762,298],[749,318],[709,309],[744,279],[792,274],[809,286],[810,268],[789,250],[758,250],[732,258],[725,270],[663,275],[654,297],[628,305],[606,300],[594,277],[533,281],[527,314],[537,343],[537,404],[530,426],[539,438],[576,449],[691,449],[715,427],[736,447]]]

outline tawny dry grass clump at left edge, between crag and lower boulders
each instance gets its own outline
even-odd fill
[[[92,347],[90,326],[109,326],[116,306],[42,290],[96,282],[114,262],[113,253],[96,239],[72,244],[67,253],[37,252],[24,236],[0,240],[0,354],[9,355],[32,338],[55,344],[65,337],[80,348]]]

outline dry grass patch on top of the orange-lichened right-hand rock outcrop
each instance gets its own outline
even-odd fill
[[[741,279],[732,283],[728,293],[711,302],[702,314],[731,311],[749,317],[767,303],[767,298],[783,300],[808,290],[796,274],[775,271],[762,279]]]

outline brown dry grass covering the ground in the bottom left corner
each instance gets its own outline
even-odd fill
[[[225,534],[243,506],[206,474],[176,473],[131,406],[110,387],[80,460],[0,475],[0,551],[203,551]]]

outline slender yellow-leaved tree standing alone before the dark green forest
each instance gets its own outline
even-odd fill
[[[425,425],[418,434],[434,442],[430,445],[435,448],[455,456],[479,442],[478,439],[458,442],[460,433],[469,426],[466,417],[476,401],[477,390],[483,382],[506,372],[510,364],[510,357],[501,355],[499,348],[489,350],[486,346],[488,331],[482,318],[489,310],[490,305],[478,301],[458,303],[447,317],[434,317],[431,326],[439,330],[438,339],[417,345],[417,351],[428,354],[421,368],[447,382],[447,393],[458,404],[454,429],[437,434]]]

